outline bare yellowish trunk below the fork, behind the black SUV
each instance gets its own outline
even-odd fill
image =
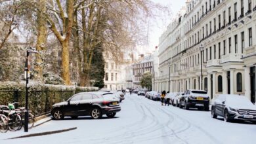
[[[61,42],[62,45],[62,78],[66,85],[70,85],[70,52],[69,40]]]

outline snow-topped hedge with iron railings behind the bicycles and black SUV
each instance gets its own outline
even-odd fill
[[[18,82],[0,83],[0,105],[19,102],[16,107],[25,107],[25,84]],[[96,91],[96,87],[63,86],[31,82],[29,86],[29,109],[34,115],[51,111],[54,103],[66,101],[79,92]]]

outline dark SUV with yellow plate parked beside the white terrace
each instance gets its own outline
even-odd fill
[[[204,90],[186,90],[185,94],[181,96],[180,108],[196,107],[209,111],[209,96]]]

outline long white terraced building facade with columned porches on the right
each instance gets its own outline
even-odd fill
[[[202,89],[255,102],[256,0],[188,0],[159,48],[158,91]]]

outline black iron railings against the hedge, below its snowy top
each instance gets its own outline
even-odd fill
[[[48,113],[54,103],[66,101],[68,98],[83,92],[81,90],[31,90],[28,106],[34,115]],[[0,105],[18,102],[15,107],[25,107],[25,90],[0,90]]]

